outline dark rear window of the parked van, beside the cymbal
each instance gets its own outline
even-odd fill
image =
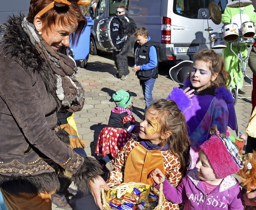
[[[174,0],[173,12],[177,15],[190,19],[203,19],[202,11],[207,14],[204,18],[209,18],[208,7],[210,2],[215,2],[224,13],[228,0]]]

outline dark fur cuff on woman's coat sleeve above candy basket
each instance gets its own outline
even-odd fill
[[[98,160],[91,157],[84,157],[81,168],[72,176],[78,190],[90,192],[89,183],[103,174],[102,166]]]

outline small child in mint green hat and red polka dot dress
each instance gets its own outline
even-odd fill
[[[118,90],[112,95],[116,107],[111,110],[108,125],[98,136],[96,154],[102,154],[99,160],[102,166],[112,160],[126,142],[134,137],[131,133],[135,125],[132,115],[132,97],[127,91]]]

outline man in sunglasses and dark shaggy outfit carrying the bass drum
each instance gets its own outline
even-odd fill
[[[121,51],[113,51],[113,58],[116,64],[117,73],[115,77],[120,78],[121,80],[125,80],[127,75],[129,74],[128,69],[128,52],[129,52],[129,40],[130,36],[134,34],[136,30],[136,24],[134,20],[125,16],[125,7],[120,5],[116,9],[116,17],[118,17],[122,22],[122,27],[124,29],[124,33],[126,34],[127,38],[124,43],[124,47]]]

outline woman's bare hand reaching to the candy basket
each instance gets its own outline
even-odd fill
[[[108,190],[108,185],[101,176],[98,176],[96,179],[94,179],[94,182],[91,180],[89,185],[95,203],[100,208],[100,210],[103,210],[101,202],[101,190],[102,188],[104,188],[104,190]]]

